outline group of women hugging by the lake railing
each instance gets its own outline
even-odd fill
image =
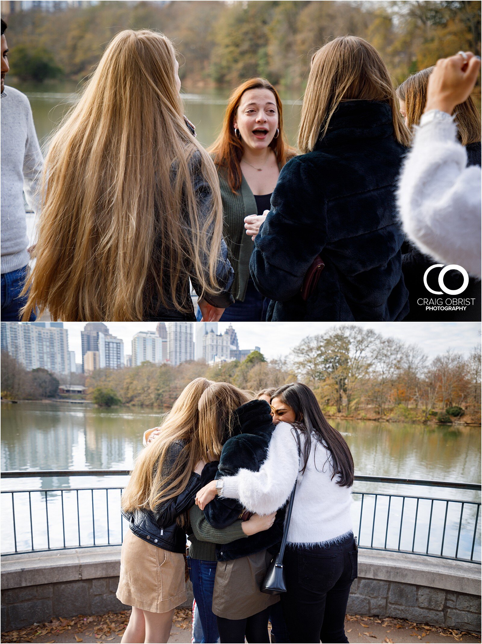
[[[144,442],[121,497],[123,643],[168,641],[188,574],[195,642],[269,642],[269,621],[272,642],[348,642],[353,459],[307,385],[197,378]]]

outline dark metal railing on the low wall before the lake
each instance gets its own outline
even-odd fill
[[[129,473],[126,469],[10,471],[1,477],[125,476]],[[481,491],[480,484],[408,478],[355,476],[355,482],[389,488],[402,485]],[[120,545],[126,527],[120,514],[122,489],[2,491],[2,554]],[[480,507],[479,500],[354,489],[354,532],[362,549],[480,564]]]

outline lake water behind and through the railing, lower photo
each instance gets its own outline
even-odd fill
[[[1,469],[130,469],[142,449],[143,432],[159,424],[157,410],[118,408],[102,410],[89,405],[68,403],[19,403],[1,405]],[[423,426],[404,423],[334,421],[353,453],[355,473],[395,478],[418,478],[428,481],[480,482],[480,427]],[[15,495],[17,548],[35,549],[67,545],[120,542],[123,529],[119,514],[120,488],[127,477],[39,477],[4,479],[2,489],[24,490]],[[76,489],[81,488],[80,491]],[[82,488],[89,488],[82,490]],[[90,488],[95,488],[91,491]],[[105,488],[117,488],[107,491]],[[47,492],[62,489],[60,492]],[[397,548],[425,551],[429,522],[429,552],[442,546],[442,529],[447,524],[444,554],[454,554],[458,526],[462,517],[459,556],[470,558],[473,544],[476,506],[479,493],[414,487],[407,485],[362,484],[355,482],[357,492],[378,493],[364,498],[361,544],[371,542]],[[27,492],[31,490],[30,494]],[[74,491],[72,491],[74,490]],[[452,502],[421,500],[393,496],[390,510],[388,496],[408,495],[463,500],[465,506]],[[31,505],[29,506],[29,497]],[[45,498],[48,498],[49,535],[46,529]],[[402,502],[404,507],[402,508]],[[354,495],[353,522],[358,530],[361,497]],[[376,510],[376,521],[373,515]],[[389,514],[389,530],[386,521]],[[13,549],[12,495],[2,495],[2,551]],[[35,531],[30,529],[29,513]],[[403,512],[403,517],[402,517]],[[64,522],[62,527],[62,513]],[[19,517],[22,517],[19,520]],[[94,521],[93,521],[94,517]],[[416,518],[416,535],[413,532]],[[109,520],[109,525],[107,525]],[[400,524],[402,528],[400,529]],[[478,518],[474,557],[480,558],[480,517]]]

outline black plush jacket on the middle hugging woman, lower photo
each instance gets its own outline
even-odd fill
[[[202,485],[206,485],[213,478],[235,475],[241,468],[258,471],[266,460],[274,428],[269,404],[266,401],[251,401],[240,406],[234,414],[230,438],[226,430],[227,440],[224,442],[219,462],[208,463],[202,470]],[[233,524],[243,509],[243,506],[233,498],[215,497],[204,509],[204,514],[211,526],[220,529]],[[238,559],[265,549],[278,552],[283,538],[284,517],[283,508],[278,510],[274,524],[269,530],[238,539],[230,544],[217,545],[217,560]]]

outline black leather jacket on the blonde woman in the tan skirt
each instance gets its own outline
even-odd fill
[[[168,451],[166,473],[172,468],[184,446],[185,443],[182,440],[175,440],[172,443]],[[173,553],[184,553],[186,533],[177,525],[176,518],[194,505],[199,489],[201,489],[201,477],[193,472],[186,489],[177,497],[161,504],[156,512],[138,509],[133,513],[123,511],[122,514],[129,521],[129,527],[134,535],[159,548]]]

